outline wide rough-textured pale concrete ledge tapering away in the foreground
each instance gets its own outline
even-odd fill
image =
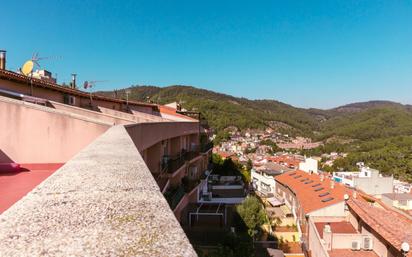
[[[196,256],[123,126],[0,215],[0,256]]]

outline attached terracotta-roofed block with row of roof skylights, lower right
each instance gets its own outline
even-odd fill
[[[277,197],[296,219],[302,249],[316,257],[401,257],[412,243],[412,220],[376,198],[323,174],[276,177]]]

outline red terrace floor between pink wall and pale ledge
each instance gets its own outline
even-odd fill
[[[48,178],[63,164],[22,164],[22,171],[0,173],[0,214]]]

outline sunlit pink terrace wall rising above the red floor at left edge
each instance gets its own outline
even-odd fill
[[[0,162],[64,163],[108,129],[4,97],[0,110]]]

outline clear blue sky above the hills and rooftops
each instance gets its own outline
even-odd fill
[[[329,108],[412,104],[412,1],[6,1],[9,69],[34,52],[69,81],[192,85]]]

